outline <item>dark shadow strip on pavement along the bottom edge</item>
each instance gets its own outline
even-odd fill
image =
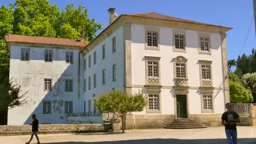
[[[131,144],[131,143],[139,143],[139,144],[169,144],[169,143],[180,143],[180,144],[197,144],[197,143],[203,143],[203,144],[220,144],[220,143],[227,143],[226,139],[194,139],[194,140],[181,140],[181,139],[147,139],[147,140],[124,140],[124,141],[101,141],[101,142],[53,142],[52,144]],[[256,138],[242,138],[238,139],[238,143],[242,144],[255,144]],[[48,143],[50,144],[50,143]]]

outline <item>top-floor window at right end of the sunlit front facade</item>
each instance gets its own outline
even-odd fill
[[[211,55],[211,34],[198,33],[199,54]]]

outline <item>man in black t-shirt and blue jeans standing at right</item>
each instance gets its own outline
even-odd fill
[[[230,103],[226,103],[226,112],[222,114],[222,124],[225,125],[226,138],[228,144],[237,144],[236,123],[240,123],[239,116],[231,110]]]

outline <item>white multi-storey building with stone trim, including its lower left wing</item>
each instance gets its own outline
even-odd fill
[[[10,77],[26,87],[23,91],[31,92],[27,94],[30,104],[9,110],[8,124],[17,124],[13,118],[18,113],[22,118],[19,124],[26,123],[32,113],[38,113],[41,123],[70,122],[64,112],[65,101],[73,101],[72,113],[96,113],[94,98],[115,88],[141,91],[149,101],[144,111],[127,116],[127,128],[163,128],[174,118],[185,117],[207,125],[220,125],[224,105],[229,102],[225,33],[231,28],[156,13],[126,14],[114,20],[112,8],[109,15],[110,25],[86,47],[84,43],[80,58],[80,47],[76,50],[74,46],[72,50],[51,47],[59,61],[53,58],[49,64],[43,61],[45,50],[50,49],[46,43],[37,48],[26,46],[30,43],[21,45],[7,40],[11,53]],[[21,49],[27,47],[30,47],[29,57],[38,61],[21,61]],[[73,64],[66,63],[66,51],[73,52]],[[52,91],[44,91],[44,79],[52,80]],[[65,92],[66,79],[73,80],[73,92]],[[63,103],[54,103],[53,95]],[[44,101],[48,100],[51,114],[44,114]],[[53,115],[54,121],[49,119]],[[103,120],[102,116],[78,119]]]

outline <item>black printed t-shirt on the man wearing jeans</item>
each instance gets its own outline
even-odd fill
[[[231,111],[231,112],[224,112],[222,114],[222,119],[225,121],[225,122],[228,122],[228,118],[239,118],[239,116],[237,115],[236,112],[234,111]],[[230,124],[225,124],[225,129],[230,129],[230,130],[236,130],[236,122],[233,121],[233,122],[229,122]]]

